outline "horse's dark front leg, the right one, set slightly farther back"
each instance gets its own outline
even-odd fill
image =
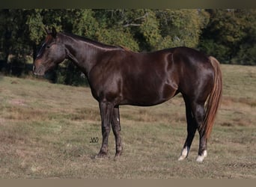
[[[112,114],[112,130],[115,135],[115,157],[121,156],[123,147],[121,141],[121,125],[120,125],[120,114],[119,108],[115,107]]]

